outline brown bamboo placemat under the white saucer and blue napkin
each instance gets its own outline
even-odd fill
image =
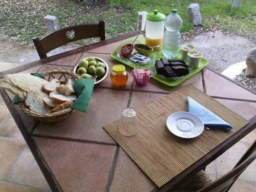
[[[175,112],[187,111],[187,96],[230,123],[233,129],[229,132],[211,129],[194,139],[174,136],[167,129],[166,119]],[[158,187],[179,175],[248,123],[191,85],[145,105],[137,111],[137,116],[140,131],[135,136],[121,135],[118,132],[119,120],[105,125],[104,129]]]

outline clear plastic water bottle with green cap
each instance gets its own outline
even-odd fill
[[[172,9],[164,20],[165,31],[163,35],[163,54],[165,57],[178,57],[180,49],[180,28],[182,19],[177,9]]]

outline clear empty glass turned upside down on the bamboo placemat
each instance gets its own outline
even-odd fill
[[[139,131],[139,119],[134,109],[123,110],[118,131],[124,136],[133,136]]]

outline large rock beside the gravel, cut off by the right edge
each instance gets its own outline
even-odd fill
[[[251,49],[246,58],[246,77],[256,78],[256,48]]]

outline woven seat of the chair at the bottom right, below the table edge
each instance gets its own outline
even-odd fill
[[[191,177],[189,180],[184,181],[182,185],[180,185],[177,189],[175,190],[170,190],[173,192],[192,192],[196,191],[200,188],[205,187],[208,185],[210,182],[210,178],[206,175],[206,173],[201,170],[198,172],[196,175]]]

